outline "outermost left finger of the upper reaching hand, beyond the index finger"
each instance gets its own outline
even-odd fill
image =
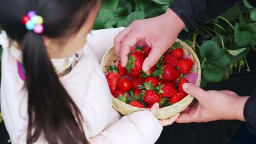
[[[115,50],[115,54],[117,56],[120,56],[120,48],[121,48],[121,44],[123,39],[130,33],[130,31],[132,30],[131,27],[127,27],[126,29],[124,29],[123,31],[121,31],[115,38],[114,38],[114,50]]]

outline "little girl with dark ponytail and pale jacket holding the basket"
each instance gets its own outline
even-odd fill
[[[154,144],[173,123],[155,118],[157,104],[122,118],[111,107],[99,62],[123,28],[91,31],[100,3],[0,1],[1,111],[12,144]]]

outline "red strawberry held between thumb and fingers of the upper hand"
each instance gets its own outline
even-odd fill
[[[144,62],[144,57],[140,54],[133,52],[129,55],[128,65],[126,66],[125,73],[130,77],[137,77],[141,74],[142,64]]]

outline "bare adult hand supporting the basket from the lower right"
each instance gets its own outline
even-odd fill
[[[229,90],[205,91],[194,84],[183,84],[183,90],[198,101],[176,119],[177,123],[209,122],[220,119],[245,121],[244,106],[249,97],[239,97]]]

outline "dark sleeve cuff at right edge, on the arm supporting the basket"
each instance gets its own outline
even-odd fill
[[[245,104],[244,117],[246,122],[256,129],[256,89],[253,90]]]

